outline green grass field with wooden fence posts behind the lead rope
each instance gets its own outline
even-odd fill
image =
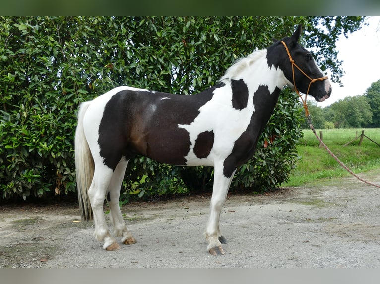
[[[323,142],[330,150],[353,170],[361,173],[373,169],[380,170],[380,147],[364,137],[361,146],[359,139],[348,146],[344,144],[355,139],[356,131],[360,136],[364,134],[380,144],[380,129],[324,129]],[[317,134],[319,135],[319,129]],[[304,130],[304,137],[297,146],[301,159],[297,162],[297,169],[292,173],[289,181],[282,186],[300,186],[321,178],[333,178],[350,175],[324,149],[319,148],[319,142],[310,129]]]

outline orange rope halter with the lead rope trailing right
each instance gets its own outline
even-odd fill
[[[292,56],[290,55],[290,52],[289,52],[289,49],[288,47],[286,46],[285,42],[284,41],[281,41],[281,43],[284,45],[285,49],[286,49],[286,52],[288,53],[288,56],[289,56],[289,60],[290,60],[290,63],[292,64],[292,73],[293,73],[293,85],[294,85],[294,91],[297,93],[297,95],[301,98],[301,101],[302,101],[302,104],[305,108],[305,115],[308,119],[308,124],[309,124],[309,127],[310,129],[313,131],[314,135],[317,137],[317,139],[319,140],[320,144],[323,145],[323,147],[327,150],[327,152],[338,162],[339,165],[341,165],[347,172],[349,172],[351,175],[353,175],[355,178],[357,178],[359,181],[362,181],[363,183],[367,184],[367,185],[370,185],[370,186],[374,186],[374,187],[377,187],[377,188],[380,188],[380,185],[377,185],[377,184],[374,184],[374,183],[371,183],[369,181],[366,181],[364,179],[362,179],[361,177],[359,177],[358,175],[356,175],[351,169],[349,169],[343,162],[341,162],[334,154],[333,152],[330,151],[330,149],[326,146],[326,144],[320,139],[320,137],[317,135],[317,132],[316,130],[314,129],[314,126],[312,124],[312,119],[310,117],[310,113],[309,113],[309,110],[308,110],[308,106],[306,104],[306,98],[308,96],[308,93],[309,93],[309,89],[310,89],[310,85],[312,85],[312,83],[316,82],[316,81],[322,81],[322,80],[326,80],[328,77],[321,77],[321,78],[317,78],[317,79],[312,79],[310,78],[307,74],[305,74],[304,71],[302,71],[300,69],[300,67],[298,67],[296,65],[296,63],[294,63],[294,60],[292,58]],[[294,66],[296,66],[296,68],[298,70],[301,71],[302,74],[304,74],[309,80],[310,80],[310,83],[309,83],[309,87],[308,87],[308,91],[306,92],[305,94],[305,99],[302,98],[302,96],[300,95],[300,92],[297,90],[296,88],[296,82],[295,82],[295,77],[294,77]]]

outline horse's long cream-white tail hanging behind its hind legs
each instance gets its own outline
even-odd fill
[[[75,169],[78,190],[79,211],[82,219],[92,219],[91,203],[87,195],[94,176],[94,159],[84,135],[83,117],[90,102],[83,102],[78,112],[78,124],[75,131]]]

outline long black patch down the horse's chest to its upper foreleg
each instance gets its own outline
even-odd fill
[[[235,169],[252,158],[258,138],[273,112],[281,89],[276,87],[274,92],[269,92],[268,86],[260,85],[253,95],[255,111],[251,116],[250,124],[242,135],[235,141],[231,154],[224,160],[223,174],[231,177]]]

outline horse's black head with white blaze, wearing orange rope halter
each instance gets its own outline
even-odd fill
[[[275,41],[268,48],[268,63],[283,70],[286,79],[296,90],[312,95],[316,101],[324,101],[331,95],[330,81],[323,75],[310,52],[298,43],[300,35],[301,25],[291,37]]]

